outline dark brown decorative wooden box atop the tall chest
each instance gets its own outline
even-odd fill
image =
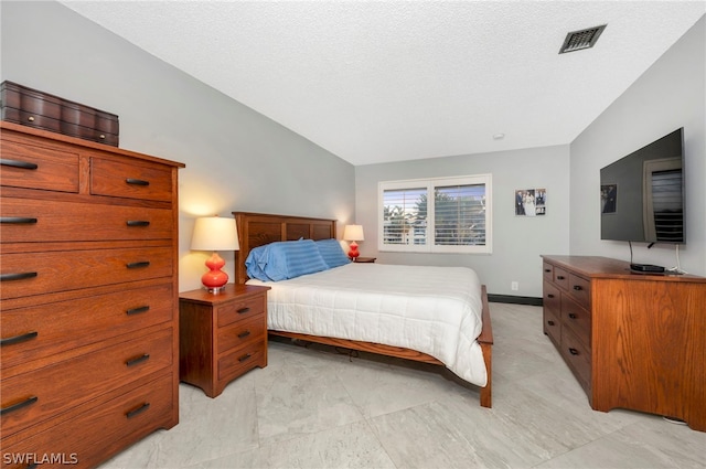
[[[118,146],[119,122],[115,114],[17,83],[0,85],[0,109],[2,120]]]

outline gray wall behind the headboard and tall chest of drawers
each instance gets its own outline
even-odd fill
[[[258,211],[354,214],[354,168],[56,2],[1,9],[1,79],[120,117],[120,148],[180,161],[180,290],[197,288],[205,253],[193,220]],[[233,255],[223,253],[233,274]],[[233,277],[232,277],[233,278]]]

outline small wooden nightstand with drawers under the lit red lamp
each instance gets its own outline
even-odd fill
[[[214,295],[179,294],[179,376],[220,395],[236,377],[267,366],[267,290],[228,284]]]

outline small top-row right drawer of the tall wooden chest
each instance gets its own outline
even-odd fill
[[[162,164],[90,159],[90,193],[94,195],[169,202],[172,189],[172,172]]]

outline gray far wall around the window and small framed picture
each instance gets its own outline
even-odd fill
[[[493,175],[492,254],[377,252],[378,181],[483,173]],[[542,297],[539,255],[567,254],[569,248],[568,174],[568,146],[356,167],[355,220],[365,231],[361,255],[388,264],[467,266],[490,294]],[[535,188],[547,190],[547,214],[515,216],[515,190]],[[511,290],[512,281],[518,290]]]

